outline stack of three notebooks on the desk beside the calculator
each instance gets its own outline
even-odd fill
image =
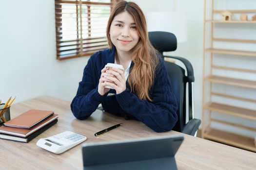
[[[29,142],[58,121],[53,111],[29,110],[0,126],[0,138],[19,142]]]

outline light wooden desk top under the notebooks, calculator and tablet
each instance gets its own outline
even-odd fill
[[[70,111],[70,102],[52,97],[13,104],[11,117],[28,109],[54,110],[59,114],[59,122],[29,143],[0,140],[0,170],[82,170],[81,145],[59,155],[36,146],[39,138],[67,130],[87,136],[85,142],[180,134],[175,131],[155,133],[139,121],[124,120],[101,111],[96,111],[89,119],[78,120]],[[96,132],[120,122],[123,125],[117,129],[103,136],[94,136]],[[180,170],[255,170],[256,167],[256,153],[188,135],[184,135],[175,157]]]

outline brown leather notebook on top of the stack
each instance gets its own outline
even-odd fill
[[[14,119],[4,123],[4,126],[30,129],[43,119],[53,115],[53,111],[31,109]]]

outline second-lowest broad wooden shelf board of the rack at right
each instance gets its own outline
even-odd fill
[[[204,106],[204,109],[216,111],[226,115],[232,115],[240,118],[256,120],[256,110],[245,109],[241,107],[210,102]]]

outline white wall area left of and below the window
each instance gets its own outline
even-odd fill
[[[0,99],[42,95],[71,101],[88,57],[56,60],[54,0],[4,0],[0,5]]]

